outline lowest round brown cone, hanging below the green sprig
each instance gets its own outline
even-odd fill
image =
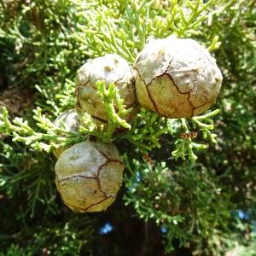
[[[111,143],[78,143],[65,150],[55,165],[62,201],[74,212],[100,212],[115,200],[124,165]]]

